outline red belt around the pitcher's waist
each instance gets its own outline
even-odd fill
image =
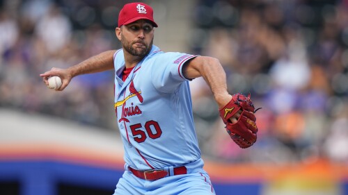
[[[153,169],[153,170],[151,169],[148,171],[139,171],[139,170],[133,169],[132,167],[128,167],[128,169],[134,174],[134,176],[137,176],[138,178],[141,178],[143,180],[158,180],[168,175],[168,171],[164,169]],[[175,167],[173,171],[174,171],[174,176],[187,173],[187,169],[185,166]]]

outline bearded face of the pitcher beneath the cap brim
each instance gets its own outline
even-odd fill
[[[123,49],[132,56],[143,57],[147,55],[152,47],[154,27],[145,19],[137,20],[131,24],[121,26],[116,35],[122,43]]]

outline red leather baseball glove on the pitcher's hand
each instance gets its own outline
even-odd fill
[[[250,94],[232,95],[231,101],[219,110],[223,122],[226,124],[226,131],[232,140],[242,149],[252,146],[257,139],[258,126],[256,126],[256,117],[254,115],[256,109],[250,99]],[[238,110],[242,109],[242,113],[237,123],[232,124],[230,118],[235,115]]]

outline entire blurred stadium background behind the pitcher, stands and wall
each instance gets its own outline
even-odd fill
[[[39,74],[107,49],[131,1],[0,1],[0,194],[112,194],[122,174],[113,72],[64,92]],[[145,1],[155,44],[219,58],[231,93],[251,92],[260,133],[238,149],[202,79],[196,130],[216,194],[348,194],[348,1]],[[198,106],[199,105],[199,106]]]

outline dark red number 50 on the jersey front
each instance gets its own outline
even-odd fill
[[[141,126],[141,124],[134,124],[129,127],[132,130],[133,138],[136,142],[141,143],[145,141],[147,135],[143,130],[141,130],[141,128],[143,127]],[[158,137],[161,137],[162,130],[159,127],[157,121],[147,121],[144,127],[146,133],[148,133],[148,137],[150,137],[151,139],[157,139]]]

